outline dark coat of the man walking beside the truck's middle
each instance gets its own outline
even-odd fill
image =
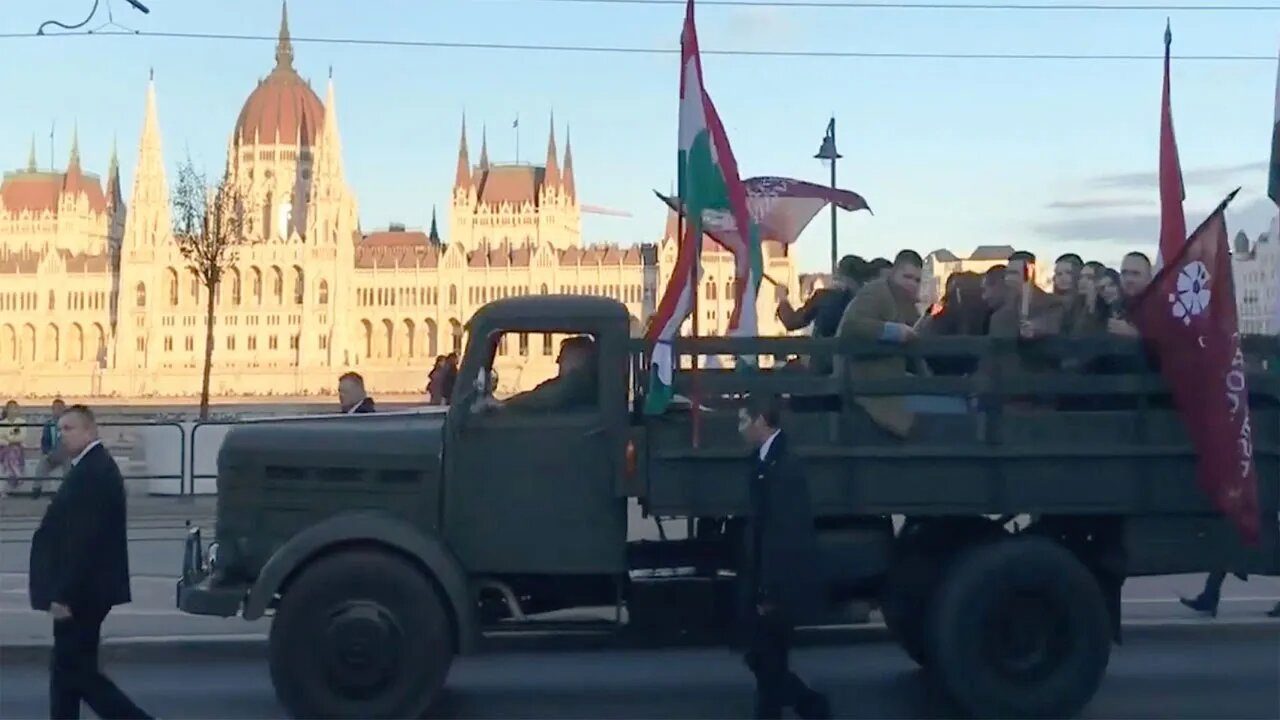
[[[769,603],[790,624],[818,619],[827,609],[827,587],[818,556],[809,484],[778,433],[762,462],[751,454],[750,515],[742,538],[741,602],[746,619]]]

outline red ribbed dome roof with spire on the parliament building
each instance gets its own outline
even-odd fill
[[[275,47],[275,69],[257,83],[236,120],[236,140],[252,143],[289,145],[300,137],[302,145],[315,145],[324,126],[324,104],[293,69],[293,44],[289,41],[288,14],[280,18],[280,41]]]

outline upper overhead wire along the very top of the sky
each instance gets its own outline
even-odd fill
[[[527,0],[530,3],[548,3],[564,5],[684,5],[686,0]],[[817,8],[837,10],[955,10],[955,12],[1011,12],[1011,13],[1274,13],[1280,12],[1276,5],[1230,5],[1230,4],[1119,4],[1119,3],[1065,3],[1065,4],[1032,4],[1032,3],[913,3],[908,0],[884,0],[882,3],[868,0],[698,0],[699,6],[726,6],[726,8]]]

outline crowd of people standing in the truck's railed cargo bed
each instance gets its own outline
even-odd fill
[[[1016,251],[1006,264],[984,274],[961,272],[947,277],[942,297],[920,310],[920,279],[924,260],[904,250],[892,261],[845,256],[831,287],[814,292],[800,307],[787,292],[778,291],[777,315],[788,331],[812,327],[814,337],[861,337],[879,342],[906,343],[928,336],[992,336],[1036,340],[1050,336],[1137,337],[1126,318],[1129,299],[1151,283],[1152,264],[1142,252],[1125,255],[1119,270],[1102,263],[1085,263],[1079,255],[1060,256],[1053,264],[1052,290],[1041,290],[1036,255]],[[1047,369],[1055,359],[1033,352],[991,359],[1000,370]],[[1097,357],[1091,373],[1134,370],[1135,357]],[[860,379],[893,378],[914,373],[968,375],[983,369],[977,357],[933,357],[923,366],[909,366],[905,357],[831,359],[814,357],[808,366],[817,373],[846,373]],[[996,368],[986,368],[988,370]],[[1139,370],[1144,370],[1142,368]],[[910,434],[918,414],[969,411],[969,400],[947,396],[860,397],[855,401],[884,430]]]

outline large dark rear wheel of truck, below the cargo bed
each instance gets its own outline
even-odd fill
[[[932,669],[974,717],[1071,717],[1111,656],[1111,623],[1092,573],[1038,537],[965,551],[929,618]]]

